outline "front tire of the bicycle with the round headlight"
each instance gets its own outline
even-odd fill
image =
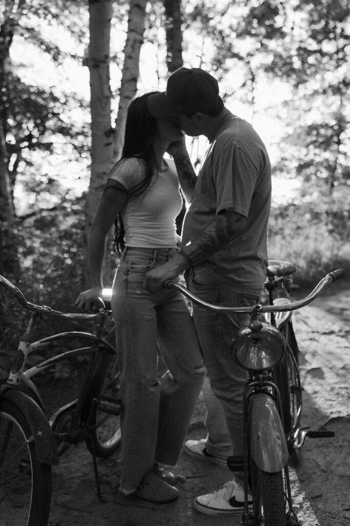
[[[253,524],[257,526],[287,526],[283,473],[262,471],[252,460],[251,490],[253,495]]]

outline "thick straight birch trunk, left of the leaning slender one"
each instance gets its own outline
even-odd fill
[[[104,181],[112,164],[113,132],[109,70],[112,0],[89,0],[89,14],[91,177],[86,200],[87,243]],[[85,279],[88,279],[88,272]]]

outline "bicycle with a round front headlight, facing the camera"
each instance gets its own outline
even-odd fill
[[[243,390],[243,456],[227,460],[231,471],[244,473],[243,526],[301,524],[293,509],[289,459],[306,437],[334,436],[333,431],[310,431],[300,425],[302,387],[291,313],[310,304],[326,285],[340,279],[344,271],[330,272],[299,301],[292,302],[288,297],[273,299],[273,290],[281,284],[288,295],[294,271],[295,267],[287,261],[270,261],[266,281],[269,305],[264,306],[221,307],[200,300],[172,281],[163,285],[182,292],[204,308],[250,315],[249,324],[239,330],[230,348],[232,359],[248,373]],[[252,510],[248,507],[248,490]]]

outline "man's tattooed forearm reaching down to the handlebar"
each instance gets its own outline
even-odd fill
[[[246,218],[235,212],[224,211],[218,214],[191,245],[184,247],[180,254],[187,258],[190,265],[212,256],[243,231]]]

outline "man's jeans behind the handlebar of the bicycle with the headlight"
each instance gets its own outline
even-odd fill
[[[186,273],[187,287],[198,298],[220,306],[245,307],[256,304],[261,288],[236,287],[213,274],[210,267],[192,268]],[[243,453],[243,386],[247,372],[231,358],[230,345],[249,314],[216,312],[193,305],[193,319],[204,354],[211,389],[222,403],[232,442],[232,454]],[[222,421],[220,423],[222,429]],[[209,452],[213,449],[209,446]]]

